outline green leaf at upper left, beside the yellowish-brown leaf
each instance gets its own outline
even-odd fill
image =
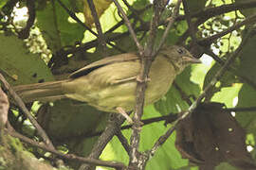
[[[70,7],[67,1],[62,1]],[[85,28],[71,20],[59,3],[51,1],[46,8],[37,11],[37,26],[43,33],[48,47],[54,52],[66,45],[81,42]]]

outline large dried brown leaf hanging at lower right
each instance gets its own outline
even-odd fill
[[[175,145],[183,158],[210,169],[221,162],[256,169],[246,149],[246,133],[220,103],[202,103],[177,126]],[[205,168],[206,165],[208,168]]]

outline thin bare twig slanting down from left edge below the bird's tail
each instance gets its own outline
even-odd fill
[[[17,93],[13,91],[13,89],[9,86],[9,83],[2,74],[0,74],[0,80],[3,83],[5,89],[9,91],[9,94],[15,100],[20,109],[25,113],[31,124],[37,129],[38,134],[42,137],[45,144],[48,145],[50,148],[55,149],[50,139],[48,138],[46,131],[37,123],[35,118],[30,114],[22,99],[17,95]]]

